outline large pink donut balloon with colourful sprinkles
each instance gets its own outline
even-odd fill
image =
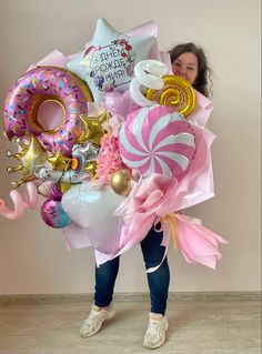
[[[62,123],[47,130],[39,120],[43,102],[52,101],[63,112]],[[39,67],[26,72],[10,89],[4,102],[3,125],[7,136],[32,133],[50,152],[71,155],[82,133],[80,114],[88,113],[87,101],[92,94],[81,79],[61,68]]]

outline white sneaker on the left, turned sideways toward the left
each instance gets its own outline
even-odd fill
[[[105,320],[110,320],[115,315],[114,305],[109,305],[107,307],[99,307],[92,305],[92,310],[87,320],[83,321],[80,335],[84,338],[98,333]]]

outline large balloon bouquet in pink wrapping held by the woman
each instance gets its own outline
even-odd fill
[[[99,19],[83,52],[54,51],[18,79],[3,127],[18,149],[8,171],[21,173],[27,196],[12,190],[13,210],[0,200],[0,214],[21,218],[41,194],[42,220],[62,229],[69,249],[92,245],[98,264],[154,226],[167,249],[214,269],[225,241],[180,212],[213,195],[212,104],[171,74],[155,37],[152,21],[120,33]]]

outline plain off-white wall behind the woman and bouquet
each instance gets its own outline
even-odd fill
[[[171,291],[260,289],[260,1],[198,0],[8,0],[0,4],[0,95],[29,64],[54,49],[81,51],[97,18],[120,31],[153,19],[159,48],[194,41],[213,68],[214,111],[209,128],[216,196],[189,213],[229,240],[216,272],[189,265],[170,250]],[[2,132],[2,128],[1,128]],[[0,198],[10,203],[10,164],[0,139]],[[91,249],[68,252],[62,232],[43,224],[38,211],[22,220],[0,219],[0,294],[85,293],[93,289]],[[122,256],[117,291],[147,290],[142,256]]]

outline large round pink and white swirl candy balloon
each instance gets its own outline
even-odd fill
[[[194,132],[173,108],[145,107],[129,114],[122,124],[119,150],[124,164],[142,176],[178,178],[195,154]]]

